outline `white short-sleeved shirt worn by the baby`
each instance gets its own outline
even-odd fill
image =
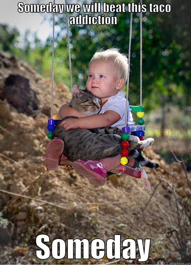
[[[115,96],[109,97],[108,101],[103,105],[99,114],[105,113],[108,110],[113,110],[120,115],[120,119],[111,125],[111,127],[118,127],[122,129],[124,126],[134,126],[135,122],[133,121],[133,117],[129,108],[129,102],[127,105],[128,111],[128,125],[127,121],[125,122],[125,110],[126,110],[126,98],[122,92],[118,92]]]

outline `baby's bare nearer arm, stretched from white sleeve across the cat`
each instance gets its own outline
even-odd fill
[[[120,115],[117,112],[108,110],[103,114],[81,117],[79,119],[66,119],[62,121],[59,126],[63,127],[65,130],[78,128],[93,129],[111,126],[119,119]]]

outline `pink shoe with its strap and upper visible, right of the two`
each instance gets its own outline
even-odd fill
[[[94,166],[94,164],[96,166]],[[97,186],[103,186],[105,184],[107,169],[105,165],[101,164],[101,162],[92,160],[83,161],[78,159],[72,162],[72,167],[80,175],[88,178],[91,183]]]

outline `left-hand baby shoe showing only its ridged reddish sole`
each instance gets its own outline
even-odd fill
[[[64,151],[64,141],[60,138],[53,138],[46,146],[45,165],[47,169],[56,170],[60,164],[61,154]]]

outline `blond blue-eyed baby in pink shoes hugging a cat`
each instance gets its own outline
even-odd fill
[[[77,116],[79,119],[63,120],[59,126],[65,130],[92,129],[106,126],[122,129],[122,127],[126,126],[126,98],[121,91],[127,81],[127,70],[127,57],[119,53],[118,49],[112,48],[96,52],[89,64],[86,89],[101,98],[101,111],[96,115],[86,116],[77,112],[68,104],[64,104],[59,110],[61,119],[66,116]],[[135,123],[130,112],[129,103],[127,116],[128,126],[133,126]],[[64,142],[59,138],[54,138],[52,141],[57,142],[58,146],[60,146],[56,154],[58,158],[57,164],[59,164],[64,150]],[[63,155],[61,159],[64,159]],[[91,183],[102,186],[105,184],[107,171],[119,166],[120,159],[120,154],[116,157],[100,159],[100,161],[83,161],[79,159],[74,161],[72,166],[79,174],[86,176]],[[133,158],[128,157],[128,160],[128,166],[132,167],[136,164]],[[46,163],[46,167],[49,168],[48,163]]]

